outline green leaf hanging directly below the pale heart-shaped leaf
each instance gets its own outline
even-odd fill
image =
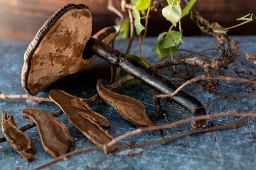
[[[182,34],[179,31],[170,31],[164,37],[163,43],[159,43],[160,48],[169,48],[178,45],[182,41]]]

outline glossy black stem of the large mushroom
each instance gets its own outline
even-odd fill
[[[136,76],[139,80],[143,81],[150,87],[158,90],[162,94],[170,94],[174,92],[177,88],[170,81],[168,81],[163,76],[160,76],[157,73],[154,73],[150,69],[138,64],[134,60],[131,60],[123,53],[118,52],[114,48],[102,43],[101,41],[90,38],[86,43],[84,48],[83,58],[88,58],[90,55],[96,54],[102,59],[105,59],[109,64],[121,67],[127,73]],[[172,100],[179,104],[180,106],[186,108],[193,115],[205,115],[205,110],[200,101],[195,97],[186,94],[185,92],[180,91],[177,95],[172,97]],[[192,122],[193,126],[200,127],[204,124],[202,121]]]

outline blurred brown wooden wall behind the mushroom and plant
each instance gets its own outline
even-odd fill
[[[117,0],[118,1],[118,0]],[[0,0],[0,39],[32,39],[36,31],[54,11],[68,3],[84,3],[93,15],[93,32],[113,25],[116,15],[107,10],[107,0]],[[256,11],[255,0],[198,0],[195,5],[200,13],[220,22],[225,27],[237,24],[236,18]],[[157,24],[156,24],[157,23]],[[198,35],[200,31],[189,19],[182,21],[184,34]],[[161,13],[151,13],[149,36],[166,31],[170,23]],[[256,34],[256,22],[234,29],[229,34]]]

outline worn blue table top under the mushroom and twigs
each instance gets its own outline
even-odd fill
[[[229,76],[241,76],[255,80],[256,66],[245,59],[245,53],[256,53],[255,36],[236,36],[239,43],[239,58],[234,64],[231,64],[225,71]],[[186,42],[182,48],[200,51],[206,48],[215,48],[218,44],[214,38],[209,37],[186,37]],[[157,59],[157,55],[152,53],[152,46],[156,38],[145,39],[144,52],[150,61]],[[23,64],[23,54],[29,44],[29,41],[0,41],[0,91],[6,94],[26,94],[20,83],[20,71]],[[125,41],[116,41],[116,46],[120,51],[125,50]],[[132,53],[138,53],[138,43],[134,43]],[[207,55],[211,55],[208,53]],[[212,52],[216,55],[216,52]],[[100,63],[100,64],[99,64]],[[246,71],[246,74],[236,74],[234,69]],[[109,67],[106,63],[98,60],[84,73],[68,76],[65,80],[56,83],[52,88],[58,88],[70,92],[79,97],[89,97],[95,93],[95,83],[100,76],[106,77],[109,73]],[[254,74],[254,76],[253,76]],[[140,85],[127,85],[116,90],[122,94],[135,97],[147,108],[147,113],[154,111],[152,102],[152,89],[140,83]],[[221,96],[250,94],[255,92],[255,87],[244,83],[234,83],[220,81],[220,87],[216,94],[209,94],[198,84],[190,85],[185,89],[189,94],[197,97],[202,103],[207,103]],[[46,97],[49,91],[41,92],[38,96]],[[207,113],[218,113],[223,111],[239,110],[243,112],[256,111],[255,97],[244,99],[228,99],[217,103],[209,104],[205,107]],[[8,115],[14,115],[18,127],[28,124],[30,121],[22,117],[22,110],[27,107],[42,108],[45,111],[54,112],[59,110],[53,103],[37,104],[26,99],[0,99],[0,110],[7,111]],[[92,107],[93,110],[102,113],[111,122],[109,133],[114,136],[120,136],[124,132],[137,129],[139,126],[131,124],[124,120],[118,113],[106,104],[99,104]],[[163,102],[163,111],[167,115],[168,122],[175,122],[182,118],[191,117],[177,104]],[[67,117],[61,115],[58,117],[63,121],[72,136],[76,138],[76,148],[93,146],[93,144],[82,134],[76,131],[68,123]],[[232,122],[233,118],[216,118],[215,125]],[[157,124],[164,124],[165,120],[158,120]],[[68,161],[58,162],[50,169],[255,169],[256,167],[256,118],[248,119],[241,127],[237,129],[214,131],[202,134],[195,134],[177,139],[165,145],[146,146],[144,148],[135,148],[132,150],[120,150],[116,153],[106,155],[104,152],[90,152],[77,155],[68,159]],[[175,129],[168,129],[167,135],[187,131],[191,129],[190,124],[184,124]],[[33,141],[36,149],[35,160],[26,162],[13,150],[6,142],[0,144],[0,164],[1,169],[31,169],[44,162],[49,162],[52,157],[44,151],[40,142],[40,137],[36,127],[25,132]],[[0,136],[3,134],[0,130]],[[154,132],[147,132],[125,139],[122,143],[130,141],[145,141],[152,139],[161,139]]]

